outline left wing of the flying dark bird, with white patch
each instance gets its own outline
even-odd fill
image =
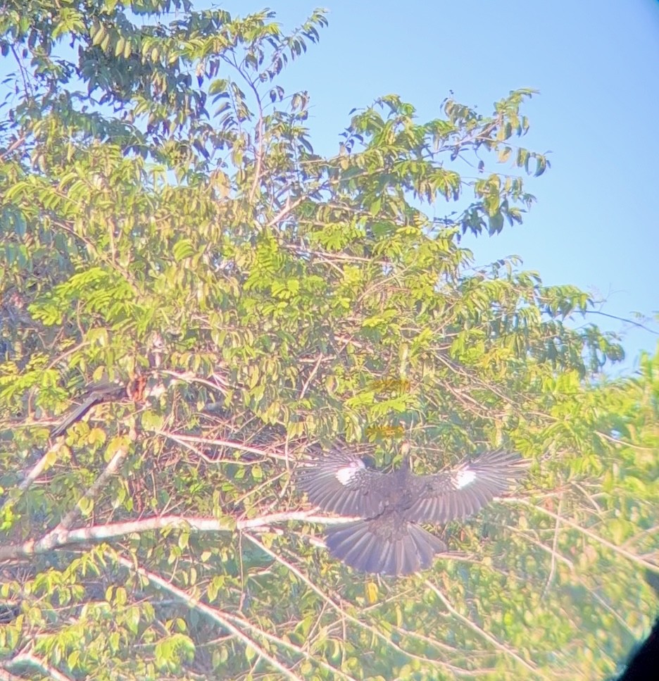
[[[389,476],[367,468],[356,454],[337,449],[306,464],[296,473],[296,485],[323,511],[374,518],[387,505]]]

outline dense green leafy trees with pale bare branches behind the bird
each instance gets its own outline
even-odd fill
[[[622,348],[571,323],[588,296],[460,242],[534,201],[533,92],[427,123],[384,96],[325,158],[279,84],[325,24],[4,4],[4,673],[594,677],[651,622],[659,358],[598,380]],[[494,446],[532,468],[432,570],[351,573],[291,470],[403,439],[418,472]]]

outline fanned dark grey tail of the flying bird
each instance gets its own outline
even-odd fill
[[[351,568],[381,575],[410,575],[432,566],[446,544],[422,527],[391,518],[356,520],[327,530],[330,554]]]

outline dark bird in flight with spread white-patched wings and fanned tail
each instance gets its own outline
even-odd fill
[[[334,558],[365,573],[410,575],[432,566],[446,544],[418,523],[448,523],[477,513],[523,475],[517,454],[490,451],[441,473],[415,475],[405,454],[383,473],[364,458],[335,448],[308,458],[296,485],[323,511],[356,517],[330,527],[325,544]]]

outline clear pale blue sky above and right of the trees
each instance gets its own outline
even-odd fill
[[[225,0],[244,15],[265,2]],[[209,6],[196,2],[196,8]],[[287,29],[319,6],[270,0]],[[659,3],[653,0],[326,0],[320,44],[284,72],[289,94],[311,95],[316,151],[337,151],[349,111],[382,94],[410,101],[423,120],[442,99],[490,113],[511,89],[539,89],[524,111],[524,144],[551,150],[552,168],[527,187],[537,204],[524,225],[466,237],[478,263],[517,254],[546,284],[570,283],[627,318],[659,311]],[[625,331],[625,370],[659,337]],[[646,323],[655,332],[659,324]],[[614,374],[618,373],[616,370]]]

